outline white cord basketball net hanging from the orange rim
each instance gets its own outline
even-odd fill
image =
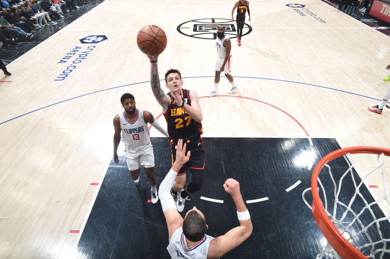
[[[347,157],[348,156],[348,157]],[[345,161],[347,162],[349,168],[347,171],[339,178],[338,183],[336,183],[336,180],[334,179],[334,176],[332,174],[331,166],[328,166],[327,164],[324,164],[324,167],[321,169],[322,174],[321,178],[323,178],[324,171],[327,171],[328,175],[330,177],[331,183],[333,184],[333,193],[326,193],[326,190],[324,186],[321,183],[321,180],[318,179],[318,184],[320,186],[319,189],[322,190],[322,197],[321,201],[324,205],[325,211],[327,215],[329,216],[331,222],[336,226],[336,228],[340,231],[340,233],[344,236],[346,240],[351,242],[352,245],[354,245],[359,251],[361,251],[365,256],[368,258],[389,258],[390,254],[390,237],[383,237],[382,231],[381,231],[381,222],[382,223],[389,223],[385,222],[390,219],[390,217],[381,217],[376,218],[378,215],[375,215],[373,206],[378,206],[378,203],[385,202],[390,205],[389,203],[389,189],[388,188],[388,179],[385,176],[384,172],[384,163],[385,163],[385,155],[380,154],[377,156],[377,162],[378,166],[375,167],[373,170],[371,170],[367,175],[365,175],[362,180],[360,180],[360,177],[356,175],[356,173],[353,172],[353,160],[351,158],[351,154],[348,153],[344,156]],[[325,169],[326,168],[326,169]],[[337,168],[336,168],[337,169]],[[334,169],[334,171],[336,171]],[[365,180],[371,175],[375,173],[375,176],[379,175],[379,172],[382,175],[382,185],[378,187],[383,188],[384,195],[381,197],[378,201],[368,202],[367,197],[365,198],[361,192],[360,187],[363,186]],[[379,182],[380,179],[376,179],[376,182]],[[323,179],[323,181],[325,181]],[[327,180],[328,181],[328,180]],[[353,186],[355,188],[355,192],[349,193],[348,197],[346,197],[346,193],[342,192],[342,186],[344,183],[348,183],[351,185],[351,183],[347,181],[352,181]],[[344,184],[345,185],[345,184]],[[311,188],[308,188],[304,190],[302,193],[303,201],[306,203],[306,205],[312,209],[310,204],[306,201],[305,194],[310,191]],[[328,190],[329,191],[329,190]],[[320,190],[318,190],[320,192]],[[341,195],[340,195],[341,194]],[[328,210],[328,198],[331,198],[334,201],[333,202],[333,208],[330,207],[330,210]],[[371,198],[371,197],[370,197]],[[356,207],[356,203],[359,201],[359,207]],[[353,209],[352,209],[353,208]],[[378,213],[376,213],[378,214]],[[367,216],[370,216],[370,220],[367,220]],[[372,217],[372,218],[371,218]],[[364,220],[363,220],[364,218]],[[389,224],[387,224],[389,226]],[[383,224],[382,224],[383,229]],[[389,242],[389,243],[388,243]],[[317,255],[316,258],[340,258],[336,251],[331,247],[329,242],[323,249],[323,251]]]

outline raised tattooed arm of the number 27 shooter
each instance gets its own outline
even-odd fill
[[[152,91],[156,97],[157,102],[161,105],[162,111],[165,112],[168,110],[170,99],[161,89],[160,78],[158,76],[158,67],[157,67],[158,56],[148,56],[148,57],[151,61],[150,62],[150,84],[152,85]]]

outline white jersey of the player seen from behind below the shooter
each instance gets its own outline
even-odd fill
[[[209,235],[204,235],[203,239],[196,245],[187,247],[183,229],[180,227],[176,229],[175,233],[172,235],[167,250],[171,255],[171,258],[206,259],[210,242],[213,239],[214,238]]]

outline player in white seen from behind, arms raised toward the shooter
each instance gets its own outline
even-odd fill
[[[229,230],[225,235],[213,238],[206,235],[206,230],[209,228],[206,224],[206,218],[196,207],[189,210],[184,219],[180,216],[172,200],[170,189],[175,182],[177,172],[190,159],[191,151],[188,151],[187,155],[185,154],[186,145],[183,145],[182,139],[178,140],[176,160],[161,182],[158,191],[168,226],[169,245],[167,250],[171,258],[175,259],[220,258],[252,234],[251,216],[242,199],[240,185],[232,178],[225,181],[223,188],[233,198],[239,226]]]

